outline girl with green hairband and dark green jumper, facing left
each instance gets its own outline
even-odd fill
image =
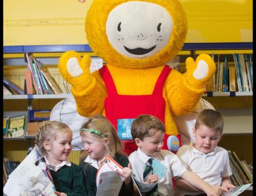
[[[96,173],[107,155],[124,167],[123,172],[117,171],[124,178],[118,195],[133,195],[131,163],[123,153],[123,144],[111,122],[103,115],[92,116],[82,125],[80,135],[85,150],[81,155],[80,166],[86,176],[88,195],[96,195]]]

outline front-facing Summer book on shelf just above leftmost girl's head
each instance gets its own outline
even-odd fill
[[[51,110],[29,110],[27,122],[27,135],[37,135],[38,129],[49,121]]]

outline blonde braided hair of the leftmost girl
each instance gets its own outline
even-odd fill
[[[45,124],[39,128],[38,135],[35,140],[35,144],[39,147],[40,153],[42,153],[42,155],[46,154],[46,150],[43,147],[44,141],[54,141],[56,140],[57,132],[63,132],[66,130],[72,133],[71,129],[63,122],[46,121]]]

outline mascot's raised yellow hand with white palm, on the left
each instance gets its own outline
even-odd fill
[[[58,69],[65,80],[72,86],[88,83],[92,79],[89,71],[90,56],[85,55],[81,60],[80,54],[75,51],[67,51],[61,55]]]

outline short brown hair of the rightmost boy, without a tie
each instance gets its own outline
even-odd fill
[[[199,128],[200,125],[205,125],[213,131],[223,132],[224,119],[220,112],[213,109],[202,110],[195,122],[195,130]]]

